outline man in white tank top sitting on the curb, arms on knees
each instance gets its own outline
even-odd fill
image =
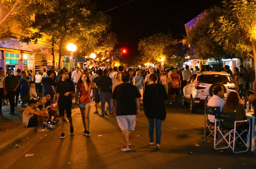
[[[45,118],[49,118],[49,115],[40,110],[36,110],[38,105],[37,100],[30,100],[28,107],[22,113],[22,122],[25,127],[34,127],[38,125],[38,132],[47,132],[48,129],[43,128],[43,122]]]

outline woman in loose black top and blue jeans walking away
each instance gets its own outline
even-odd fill
[[[145,87],[143,107],[149,119],[150,145],[154,145],[154,128],[156,126],[156,149],[159,150],[162,134],[162,121],[165,120],[165,100],[168,96],[165,86],[157,83],[157,75],[152,73],[149,77],[150,85]]]

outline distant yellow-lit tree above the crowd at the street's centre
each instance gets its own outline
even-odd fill
[[[172,55],[168,53],[169,50],[167,48],[175,44],[175,42],[169,33],[158,33],[150,37],[145,37],[143,40],[141,39],[138,44],[140,56],[137,59],[140,59],[139,63],[156,63],[160,62],[161,58],[165,58],[165,61],[168,63],[168,60],[172,59],[170,57]]]

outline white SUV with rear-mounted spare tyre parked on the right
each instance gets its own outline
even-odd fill
[[[224,88],[225,98],[230,91],[236,90],[230,74],[226,72],[195,71],[183,88],[182,105],[190,103],[190,111],[196,112],[198,105],[204,105],[207,96],[213,96],[213,88],[217,85]]]

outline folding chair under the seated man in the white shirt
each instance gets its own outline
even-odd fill
[[[209,121],[208,114],[215,115],[216,111],[220,111],[220,107],[210,107],[208,105],[205,105],[205,111],[204,111],[204,141],[205,142],[207,142],[207,139],[210,136],[214,138],[215,123]]]

